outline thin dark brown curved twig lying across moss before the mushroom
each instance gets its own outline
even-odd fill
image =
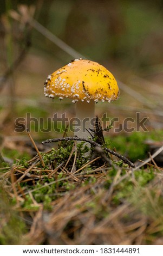
[[[94,147],[100,147],[101,145],[96,143],[95,141],[91,141],[90,139],[85,139],[85,138],[79,138],[79,137],[64,137],[64,138],[55,138],[55,139],[47,139],[46,141],[43,141],[42,144],[45,143],[51,143],[51,142],[58,142],[58,141],[83,141],[83,142],[88,142]],[[124,163],[127,163],[129,166],[136,168],[136,166],[129,161],[125,156],[120,155],[119,153],[114,152],[112,149],[108,148],[103,148],[103,150],[109,152],[110,154],[119,157]]]

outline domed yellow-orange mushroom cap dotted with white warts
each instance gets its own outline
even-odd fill
[[[86,59],[75,59],[49,75],[44,94],[59,99],[112,101],[119,97],[118,84],[104,66]]]

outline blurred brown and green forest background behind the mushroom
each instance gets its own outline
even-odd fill
[[[118,80],[120,99],[97,103],[99,117],[107,113],[120,124],[133,118],[128,125],[138,128],[140,112],[140,119],[148,117],[148,131],[162,129],[163,1],[0,0],[0,5],[2,148],[21,149],[20,141],[28,141],[27,132],[15,132],[17,118],[26,119],[27,113],[43,118],[31,121],[34,139],[62,137],[50,131],[48,118],[64,112],[74,117],[75,105],[46,98],[43,86],[49,74],[79,57],[106,66]],[[125,129],[105,134],[110,135],[127,136]]]

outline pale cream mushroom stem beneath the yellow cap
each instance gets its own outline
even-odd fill
[[[94,128],[95,102],[90,100],[76,102],[76,126],[74,135],[80,138],[88,138],[89,129]],[[88,131],[87,131],[88,130]]]

